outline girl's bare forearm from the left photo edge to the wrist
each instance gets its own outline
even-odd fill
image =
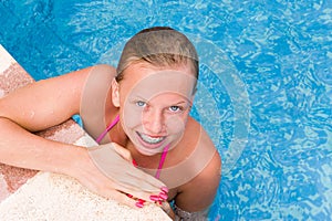
[[[48,140],[0,117],[0,162],[28,169],[73,173],[73,157],[84,149]]]

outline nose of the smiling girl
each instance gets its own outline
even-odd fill
[[[165,127],[163,113],[157,109],[145,112],[143,116],[143,126],[147,134],[159,135]]]

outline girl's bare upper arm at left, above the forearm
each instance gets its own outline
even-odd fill
[[[0,117],[31,131],[61,124],[79,113],[86,77],[93,69],[101,67],[114,69],[108,65],[91,66],[15,90],[0,99]]]

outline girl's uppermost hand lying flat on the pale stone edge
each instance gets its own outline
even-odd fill
[[[166,186],[135,168],[129,151],[117,144],[89,148],[87,154],[84,161],[77,165],[81,169],[76,177],[90,190],[131,207],[137,203],[137,198],[154,202],[151,196],[165,193]]]

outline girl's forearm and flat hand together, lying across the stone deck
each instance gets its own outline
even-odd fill
[[[106,151],[110,164],[95,164],[101,157],[101,149]],[[44,139],[3,117],[0,117],[0,162],[68,175],[92,192],[128,206],[134,206],[136,201],[124,192],[151,201],[149,197],[159,194],[162,187],[165,187],[159,180],[133,167],[112,144],[87,150]]]

